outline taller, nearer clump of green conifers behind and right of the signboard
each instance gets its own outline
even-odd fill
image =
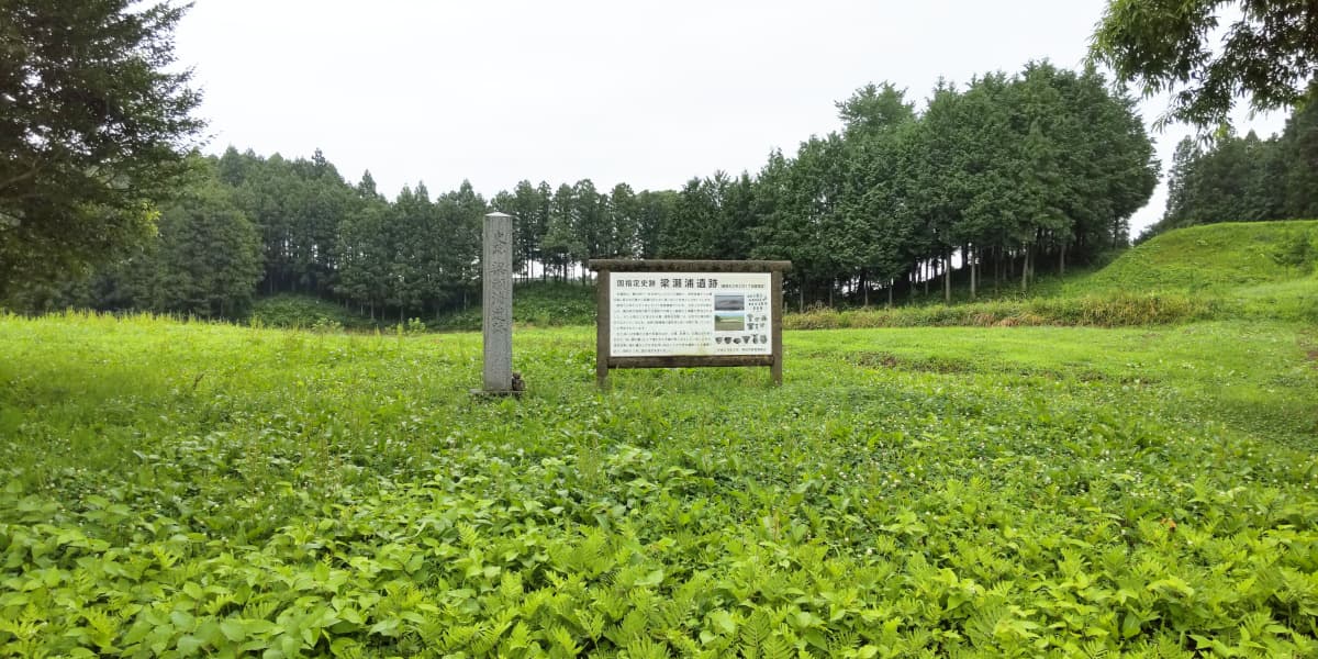
[[[938,274],[950,297],[960,261],[974,295],[987,278],[1028,286],[1041,258],[1065,270],[1124,245],[1157,182],[1132,100],[1094,70],[1031,63],[963,88],[940,83],[919,115],[902,91],[871,84],[838,111],[841,133],[811,137],[795,158],[771,154],[754,179],[688,183],[681,198],[702,214],[673,217],[666,235],[691,240],[670,252],[718,244],[739,257],[745,245],[789,258],[803,302],[891,301]]]

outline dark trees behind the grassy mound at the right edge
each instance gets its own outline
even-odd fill
[[[1281,134],[1223,130],[1182,140],[1168,179],[1166,212],[1140,239],[1217,221],[1318,217],[1318,107],[1296,108]]]

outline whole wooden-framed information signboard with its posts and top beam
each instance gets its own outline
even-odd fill
[[[609,369],[768,366],[783,384],[791,261],[597,258],[596,381]]]

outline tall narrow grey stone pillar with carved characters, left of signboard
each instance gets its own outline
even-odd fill
[[[517,395],[521,377],[513,373],[513,216],[485,216],[481,252],[481,320],[485,369],[481,393]]]

